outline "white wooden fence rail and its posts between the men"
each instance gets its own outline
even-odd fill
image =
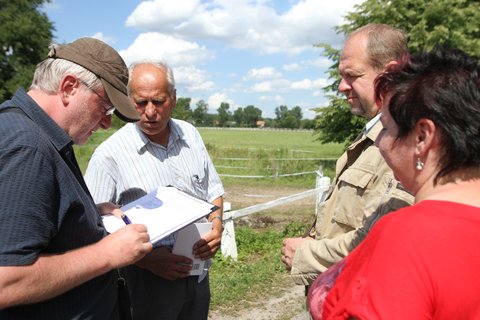
[[[256,204],[247,208],[231,211],[231,204],[229,202],[224,203],[223,207],[223,223],[224,229],[222,233],[221,251],[225,257],[232,257],[237,259],[237,243],[235,242],[235,228],[234,219],[241,218],[252,213],[260,212],[272,207],[283,205],[289,202],[297,201],[312,195],[317,195],[317,201],[315,206],[315,213],[317,213],[318,205],[325,200],[328,190],[330,189],[330,178],[324,177],[321,170],[317,172],[317,180],[315,189],[307,190],[301,193],[293,194],[286,197],[281,197],[265,203]]]

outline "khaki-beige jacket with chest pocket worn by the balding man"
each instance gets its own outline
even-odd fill
[[[309,239],[295,252],[295,283],[311,284],[353,250],[381,216],[413,203],[374,145],[381,129],[378,121],[338,159],[336,178],[318,208]]]

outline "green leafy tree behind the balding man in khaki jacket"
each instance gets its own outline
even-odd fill
[[[478,0],[366,0],[356,5],[336,27],[337,33],[349,32],[368,23],[386,23],[408,33],[409,50],[429,50],[435,45],[456,47],[480,55],[480,10]],[[316,108],[315,131],[321,142],[350,143],[362,130],[365,120],[353,116],[350,107],[338,94],[339,50],[318,44],[334,63],[329,68],[333,83],[324,88],[328,106]]]

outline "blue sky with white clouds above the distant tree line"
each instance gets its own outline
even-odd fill
[[[177,98],[199,100],[216,113],[254,105],[262,117],[275,108],[327,105],[322,88],[332,65],[314,45],[340,49],[334,26],[362,0],[52,0],[42,10],[54,41],[94,37],[126,64],[160,59],[174,72]]]

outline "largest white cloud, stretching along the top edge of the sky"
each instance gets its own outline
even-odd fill
[[[272,1],[153,0],[140,3],[126,25],[183,39],[213,39],[261,53],[297,54],[313,44],[342,41],[333,26],[362,0],[296,1],[285,13]]]

